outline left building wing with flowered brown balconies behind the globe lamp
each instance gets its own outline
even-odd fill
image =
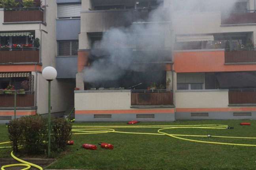
[[[52,0],[43,0],[41,5],[0,8],[0,89],[10,84],[25,91],[17,94],[16,100],[13,94],[0,94],[0,123],[14,116],[48,113],[48,83],[41,71],[56,67],[57,5]],[[61,78],[52,81],[52,113],[61,113],[73,104],[73,86]]]

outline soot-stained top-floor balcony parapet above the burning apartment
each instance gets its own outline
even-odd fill
[[[154,15],[154,11],[160,15]],[[160,16],[160,17],[154,17]],[[81,32],[105,32],[113,27],[128,27],[137,22],[169,22],[169,9],[116,9],[82,11],[81,23],[87,23]]]

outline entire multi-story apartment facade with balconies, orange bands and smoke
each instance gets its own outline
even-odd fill
[[[34,103],[19,115],[47,113],[41,70],[50,65],[58,73],[52,112],[74,104],[76,121],[256,118],[255,0],[43,3],[42,21],[4,21],[0,9],[1,43],[16,36],[30,43],[33,35],[41,44],[31,50],[36,61],[0,62],[3,86],[34,78],[27,89]],[[0,60],[7,52],[22,50],[0,49]]]

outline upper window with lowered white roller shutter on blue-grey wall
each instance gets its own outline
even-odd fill
[[[80,18],[81,4],[68,3],[68,4],[58,4],[58,19],[65,18]]]

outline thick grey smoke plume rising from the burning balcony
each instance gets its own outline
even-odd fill
[[[173,3],[169,3],[169,7],[184,12],[201,9],[213,11],[213,8],[216,10],[218,8],[219,11],[220,8],[221,10],[230,9],[234,2],[235,0],[175,0]],[[149,13],[148,20],[164,21],[168,17],[171,17],[170,13],[164,13],[163,8],[158,8]],[[94,47],[92,47],[90,57],[92,62],[84,69],[84,82],[92,84],[92,86],[104,86],[106,84],[103,82],[112,82],[114,86],[119,86],[120,78],[129,78],[130,80],[126,80],[127,82],[139,83],[139,81],[135,81],[135,77],[139,76],[134,76],[133,71],[152,73],[155,70],[163,70],[163,65],[157,64],[157,62],[171,61],[171,51],[166,58],[161,56],[162,54],[156,49],[165,47],[166,29],[167,26],[170,29],[170,25],[163,22],[147,24],[137,22],[126,28],[111,28],[104,32],[101,41],[94,43]],[[107,84],[107,86],[111,85]]]

